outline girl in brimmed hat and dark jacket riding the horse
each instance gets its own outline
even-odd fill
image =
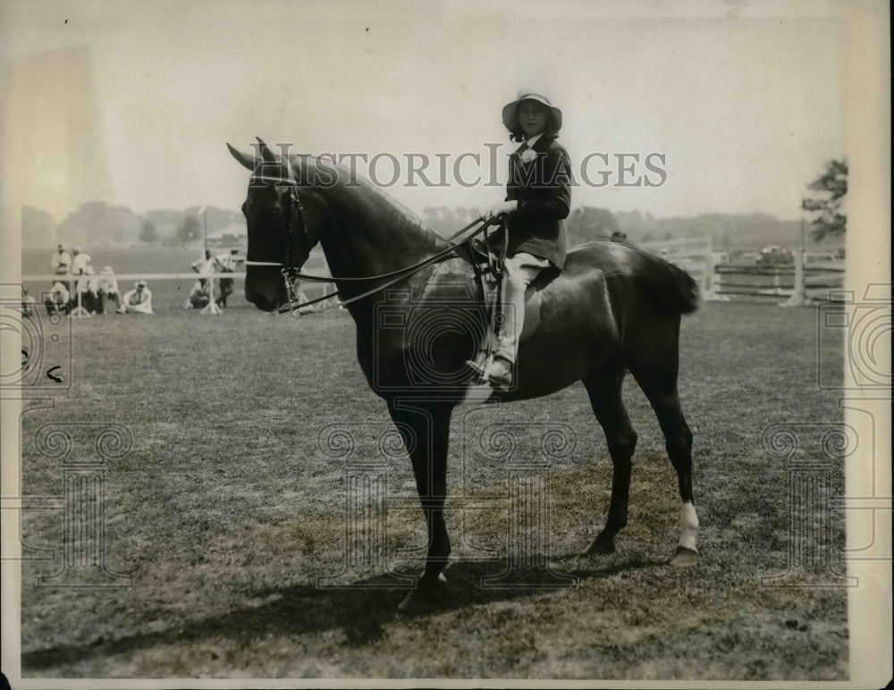
[[[512,383],[512,367],[524,325],[525,290],[544,268],[561,270],[565,264],[562,220],[571,204],[571,164],[568,152],[556,142],[561,110],[543,94],[519,91],[502,109],[510,139],[521,144],[510,155],[506,200],[485,213],[505,215],[509,227],[506,265],[502,277],[502,325],[493,358],[483,374],[494,388]]]

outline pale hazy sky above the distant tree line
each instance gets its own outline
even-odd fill
[[[378,154],[358,171],[417,213],[486,206],[514,147],[502,106],[526,88],[562,110],[573,206],[799,218],[847,155],[840,8],[6,0],[5,199],[56,221],[91,199],[237,209],[247,172],[225,144],[259,136]],[[410,179],[410,154],[433,182],[442,156],[446,184]]]

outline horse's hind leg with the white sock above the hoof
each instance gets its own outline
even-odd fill
[[[671,565],[694,565],[698,561],[698,517],[692,501],[692,432],[689,431],[679,406],[676,357],[666,363],[665,367],[656,366],[654,362],[645,366],[631,365],[630,372],[637,379],[658,417],[668,457],[677,471],[682,506],[679,515],[679,545],[671,559]]]

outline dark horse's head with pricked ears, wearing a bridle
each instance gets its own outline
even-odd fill
[[[227,144],[232,156],[252,175],[242,213],[249,228],[245,297],[264,311],[288,299],[283,271],[298,271],[308,260],[327,222],[325,199],[299,179],[288,159],[258,139],[258,156]]]

